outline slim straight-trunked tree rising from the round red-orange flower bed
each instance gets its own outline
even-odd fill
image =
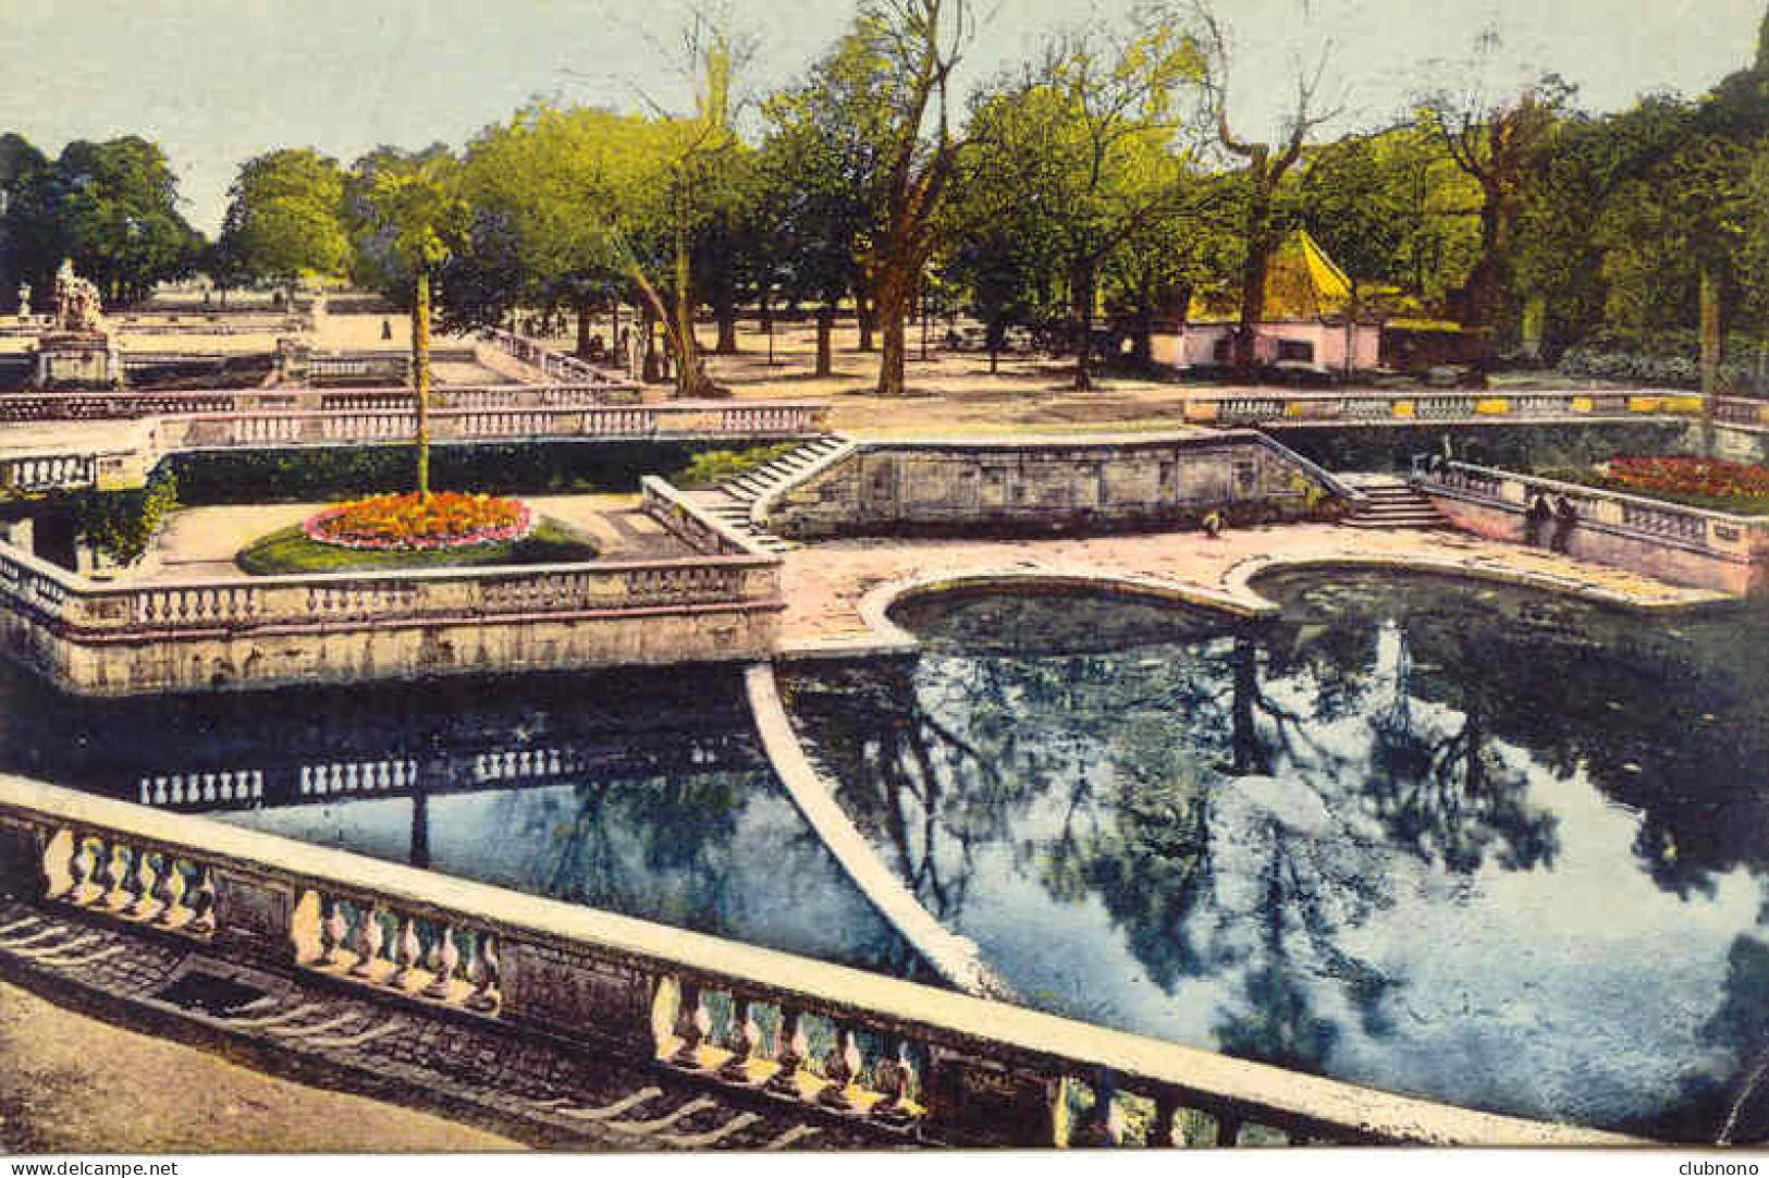
[[[448,260],[465,230],[456,195],[458,164],[439,156],[403,168],[380,168],[366,189],[366,214],[377,237],[412,276],[412,384],[417,396],[417,497],[430,499],[430,276]]]

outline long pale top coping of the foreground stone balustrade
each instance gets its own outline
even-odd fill
[[[490,884],[315,847],[212,819],[166,814],[127,801],[81,794],[0,775],[0,812],[55,828],[113,831],[209,863],[246,868],[292,886],[391,900],[402,911],[460,914],[563,948],[651,962],[789,994],[810,1008],[839,1006],[881,1026],[900,1026],[985,1051],[1054,1061],[1068,1068],[1107,1068],[1125,1077],[1205,1091],[1284,1116],[1343,1127],[1396,1143],[1461,1146],[1626,1146],[1649,1144],[1620,1134],[1528,1121],[1382,1093],[1341,1081],[1231,1059],[1143,1035],[1114,1031],[1007,1003],[953,994],[884,975],[764,950],[738,941],[524,895]]]

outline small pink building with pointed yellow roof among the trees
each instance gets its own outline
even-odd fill
[[[1176,368],[1221,368],[1233,359],[1240,308],[1233,297],[1194,297],[1176,331],[1155,333],[1153,357]],[[1252,352],[1261,366],[1367,371],[1380,366],[1382,322],[1352,317],[1352,281],[1327,251],[1297,230],[1272,255],[1265,317]]]

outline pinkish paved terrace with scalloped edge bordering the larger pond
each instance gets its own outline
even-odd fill
[[[1155,577],[1222,591],[1231,573],[1286,561],[1346,561],[1467,571],[1573,591],[1633,608],[1728,601],[1707,589],[1670,585],[1640,573],[1574,561],[1449,529],[1369,531],[1330,524],[1251,527],[1208,539],[1201,532],[1148,532],[1063,539],[840,539],[784,555],[780,644],[787,653],[872,637],[860,601],[884,582],[1015,570],[1067,575]]]

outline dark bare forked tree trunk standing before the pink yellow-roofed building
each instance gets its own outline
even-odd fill
[[[1307,136],[1321,124],[1336,119],[1339,111],[1321,108],[1320,88],[1327,71],[1327,55],[1323,51],[1313,74],[1298,73],[1297,76],[1295,104],[1284,119],[1277,147],[1240,138],[1229,126],[1228,117],[1228,71],[1231,62],[1228,35],[1208,0],[1194,0],[1192,11],[1203,30],[1203,85],[1217,142],[1226,152],[1245,161],[1242,175],[1247,186],[1247,256],[1242,265],[1240,325],[1235,333],[1233,363],[1237,370],[1251,371],[1256,363],[1254,340],[1258,324],[1265,317],[1265,287],[1272,267],[1272,255],[1283,241],[1283,225],[1275,209],[1277,187],[1297,159],[1302,157]]]

